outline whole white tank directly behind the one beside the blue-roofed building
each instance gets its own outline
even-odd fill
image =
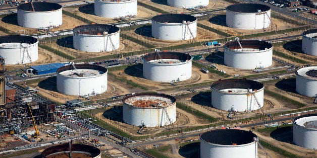
[[[120,29],[104,24],[77,26],[73,29],[73,46],[87,52],[116,50],[120,47]]]

